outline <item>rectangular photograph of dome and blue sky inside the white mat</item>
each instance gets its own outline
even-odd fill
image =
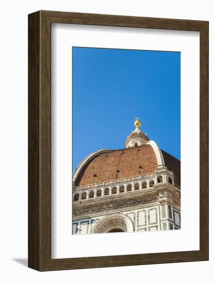
[[[181,229],[181,52],[72,47],[72,235]]]

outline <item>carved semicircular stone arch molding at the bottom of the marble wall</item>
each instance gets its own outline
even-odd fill
[[[124,232],[134,231],[131,219],[124,214],[108,215],[96,224],[92,233],[107,233],[112,229],[119,228]]]

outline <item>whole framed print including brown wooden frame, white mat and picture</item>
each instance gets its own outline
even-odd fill
[[[208,22],[29,15],[29,267],[208,260]]]

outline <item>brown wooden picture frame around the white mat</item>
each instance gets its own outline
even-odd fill
[[[29,14],[28,266],[38,271],[208,260],[208,22],[56,11]],[[51,259],[51,24],[200,32],[200,250]]]

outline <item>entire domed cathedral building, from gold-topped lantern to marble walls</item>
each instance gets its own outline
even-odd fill
[[[181,228],[181,162],[141,130],[90,153],[73,173],[73,234]]]

